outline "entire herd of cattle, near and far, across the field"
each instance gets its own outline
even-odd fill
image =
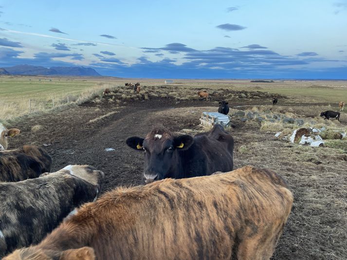
[[[228,102],[219,102],[219,113],[228,112]],[[103,172],[69,165],[50,173],[44,149],[7,150],[8,137],[19,133],[0,124],[5,260],[270,259],[292,208],[292,193],[277,173],[233,171],[234,139],[219,124],[194,137],[163,126],[145,138],[129,137],[126,144],[144,154],[146,185],[118,187],[98,199]]]

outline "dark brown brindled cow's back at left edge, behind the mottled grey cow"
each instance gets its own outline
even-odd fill
[[[16,150],[1,151],[0,182],[37,178],[41,173],[50,172],[51,166],[51,156],[37,146],[24,145]]]

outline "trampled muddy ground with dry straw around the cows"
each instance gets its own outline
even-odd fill
[[[223,90],[217,94],[211,101],[150,95],[137,99],[96,97],[79,106],[15,122],[9,127],[19,128],[21,134],[10,140],[9,149],[23,144],[43,146],[53,158],[53,171],[68,164],[90,164],[105,173],[103,191],[142,184],[143,154],[128,148],[125,140],[144,137],[155,123],[172,131],[200,131],[201,112],[218,110]],[[272,104],[272,94],[256,98],[247,92],[243,98],[234,94],[228,99],[231,107]],[[327,104],[315,105],[320,109]],[[291,98],[279,99],[279,106],[306,117],[320,112]],[[345,118],[341,117],[341,122],[346,126]],[[275,139],[273,133],[260,132],[260,125],[253,121],[233,123],[235,169],[254,165],[275,170],[287,178],[295,197],[273,259],[347,259],[347,154]],[[106,152],[106,148],[115,150]]]

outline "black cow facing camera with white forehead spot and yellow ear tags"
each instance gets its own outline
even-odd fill
[[[157,126],[145,139],[130,137],[126,143],[145,152],[145,183],[233,170],[234,139],[220,124],[194,137],[175,135],[163,126]]]

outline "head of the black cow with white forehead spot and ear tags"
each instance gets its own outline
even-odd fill
[[[146,138],[130,137],[127,145],[145,153],[144,180],[151,183],[155,180],[172,177],[177,169],[180,152],[189,149],[194,139],[190,135],[174,136],[164,128],[154,129]]]

